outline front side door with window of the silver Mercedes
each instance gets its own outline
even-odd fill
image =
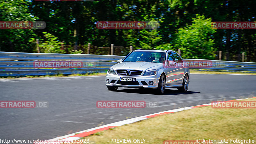
[[[172,52],[169,52],[167,55],[167,61],[175,61]],[[168,66],[168,73],[166,74],[166,85],[177,84],[179,70],[176,66]]]

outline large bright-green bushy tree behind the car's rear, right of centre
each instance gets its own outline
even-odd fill
[[[179,28],[175,47],[180,48],[183,58],[214,59],[215,29],[211,27],[212,19],[205,19],[197,15],[193,18],[192,25]]]

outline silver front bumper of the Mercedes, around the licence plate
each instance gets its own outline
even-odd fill
[[[132,77],[136,78],[136,82],[126,82],[120,81],[120,77]],[[109,83],[107,83],[107,79],[109,79]],[[153,81],[153,85],[149,85],[149,81]],[[159,78],[157,78],[157,74],[154,76],[121,76],[121,75],[113,75],[107,73],[105,82],[106,86],[118,86],[118,87],[133,87],[133,88],[153,88],[156,89],[158,85]]]

